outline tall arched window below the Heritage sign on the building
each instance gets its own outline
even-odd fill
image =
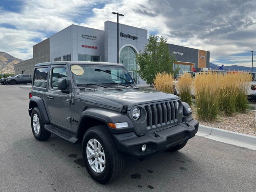
[[[120,52],[119,61],[124,66],[126,66],[127,70],[130,72],[131,76],[135,78],[136,82],[138,82],[138,74],[135,72],[138,70],[138,64],[136,63],[136,50],[131,46],[126,46],[122,48]]]

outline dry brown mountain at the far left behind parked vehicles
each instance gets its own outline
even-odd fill
[[[4,73],[13,73],[14,65],[24,60],[11,56],[8,53],[0,52],[0,71]]]

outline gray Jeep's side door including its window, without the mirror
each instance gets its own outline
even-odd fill
[[[48,112],[53,124],[71,128],[71,92],[66,94],[58,90],[60,78],[65,78],[68,83],[66,68],[64,66],[52,66],[47,96]]]

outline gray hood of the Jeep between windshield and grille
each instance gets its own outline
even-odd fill
[[[130,110],[132,106],[139,104],[179,98],[173,94],[135,88],[80,90],[80,93],[82,94],[82,101],[93,102],[120,109],[122,109],[123,105],[127,105],[128,110]]]

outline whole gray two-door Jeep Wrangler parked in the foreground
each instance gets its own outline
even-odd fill
[[[122,64],[39,63],[33,77],[28,111],[34,137],[82,142],[86,169],[101,184],[122,174],[124,156],[180,150],[198,130],[187,103],[137,88]]]

